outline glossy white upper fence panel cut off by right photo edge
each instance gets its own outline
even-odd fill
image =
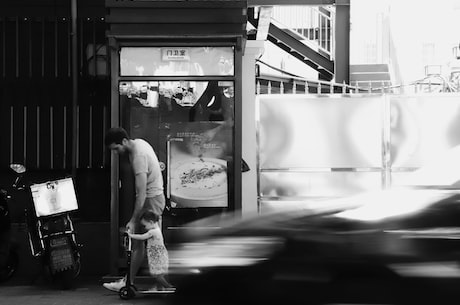
[[[442,161],[460,145],[458,95],[395,96],[390,102],[392,168]]]

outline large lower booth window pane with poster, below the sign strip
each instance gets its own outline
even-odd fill
[[[166,164],[171,207],[227,207],[234,82],[121,81],[119,94],[122,126]]]

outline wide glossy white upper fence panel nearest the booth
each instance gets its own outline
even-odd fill
[[[382,166],[383,97],[258,98],[262,169]]]

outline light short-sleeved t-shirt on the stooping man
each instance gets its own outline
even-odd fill
[[[142,139],[134,139],[134,149],[130,155],[134,175],[147,174],[147,198],[163,194],[163,176],[158,157],[152,146]]]

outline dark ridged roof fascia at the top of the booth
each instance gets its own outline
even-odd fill
[[[105,4],[109,37],[246,37],[246,0],[106,0]]]

